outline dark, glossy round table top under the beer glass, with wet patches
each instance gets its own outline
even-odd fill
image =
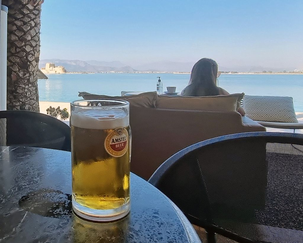
[[[131,211],[110,223],[77,217],[71,153],[0,147],[0,242],[201,242],[184,214],[131,173]]]

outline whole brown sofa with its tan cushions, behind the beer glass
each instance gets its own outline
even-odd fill
[[[158,96],[156,92],[115,97],[79,92],[84,99],[129,101],[131,171],[145,180],[165,160],[191,144],[227,134],[265,131],[265,127],[236,111],[243,95],[205,99]]]

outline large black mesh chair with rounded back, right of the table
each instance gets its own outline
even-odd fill
[[[169,142],[169,140],[168,140]],[[191,145],[149,182],[191,223],[238,242],[303,242],[303,135],[238,133]]]

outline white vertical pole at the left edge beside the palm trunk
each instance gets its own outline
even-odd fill
[[[6,69],[7,69],[7,13],[8,8],[1,5],[0,30],[0,110],[6,110]]]

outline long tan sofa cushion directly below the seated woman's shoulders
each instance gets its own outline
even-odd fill
[[[176,110],[237,111],[244,93],[217,96],[158,96],[156,107]]]

